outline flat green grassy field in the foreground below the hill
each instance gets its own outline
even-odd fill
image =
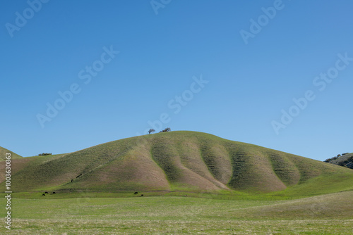
[[[352,234],[353,191],[296,200],[14,198],[11,234]],[[273,199],[273,198],[272,198]],[[5,201],[1,198],[0,203]],[[4,217],[4,212],[1,213]],[[0,233],[5,234],[0,227]]]

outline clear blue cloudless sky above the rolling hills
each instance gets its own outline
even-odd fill
[[[162,115],[317,160],[353,152],[352,1],[42,1],[0,3],[4,148],[78,151]]]

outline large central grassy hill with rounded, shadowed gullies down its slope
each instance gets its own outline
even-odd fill
[[[74,153],[15,159],[13,165],[13,191],[309,196],[353,189],[353,170],[201,132],[136,136]]]

